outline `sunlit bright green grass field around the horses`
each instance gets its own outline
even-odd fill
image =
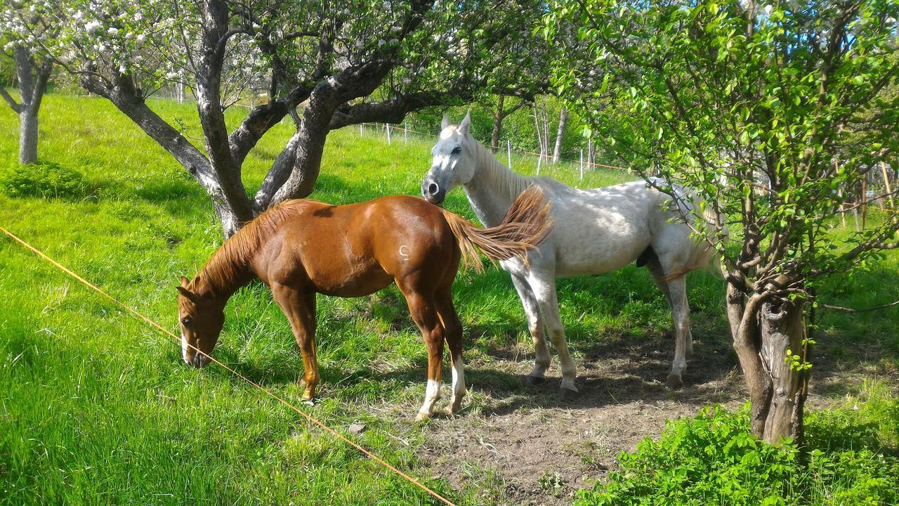
[[[154,108],[200,137],[190,104]],[[51,196],[10,191],[11,180],[22,180],[14,168],[18,125],[12,112],[0,110],[0,183],[7,188],[0,226],[175,330],[178,276],[191,276],[221,242],[206,194],[102,99],[49,95],[41,127],[44,167],[83,180]],[[248,188],[262,181],[291,130],[279,125],[251,153]],[[396,138],[387,146],[373,132],[360,138],[358,128],[335,131],[312,196],[349,203],[417,194],[430,147]],[[534,163],[520,158],[513,165],[532,171]],[[590,172],[582,183],[574,167],[544,174],[584,186],[631,178]],[[474,217],[461,191],[446,205]],[[835,281],[829,300],[891,302],[899,298],[897,271],[895,255],[872,263]],[[705,273],[692,281],[694,333],[724,336],[721,281]],[[530,347],[504,273],[462,274],[455,297],[475,377],[494,348]],[[670,325],[662,297],[636,267],[566,281],[560,297],[575,358],[607,336],[642,339]],[[0,300],[0,504],[433,503],[236,377],[184,366],[177,343],[6,239],[0,239]],[[396,288],[360,299],[319,297],[317,311],[323,384],[320,400],[304,410],[337,429],[364,423],[367,429],[352,438],[458,503],[482,503],[482,487],[502,486],[474,476],[468,486],[452,487],[441,469],[417,456],[428,426],[412,421],[423,397],[426,353]],[[267,288],[245,287],[226,315],[214,356],[298,402],[302,361]],[[897,324],[896,309],[829,314],[820,353],[838,366],[895,371]],[[519,388],[518,378],[503,381]],[[845,393],[833,388],[833,395]],[[461,416],[478,413],[482,399],[475,384]]]

